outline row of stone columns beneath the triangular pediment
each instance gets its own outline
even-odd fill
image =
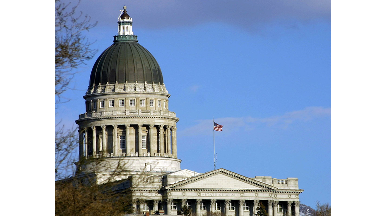
[[[137,204],[138,213],[144,214],[144,212],[148,212],[149,210],[153,210],[154,212],[163,209],[163,206],[166,206],[165,214],[168,215],[176,215],[177,210],[180,210],[180,208],[184,205],[187,205],[187,201],[189,204],[191,202],[195,202],[195,207],[191,207],[193,212],[196,216],[203,216],[207,214],[208,212],[218,212],[218,213],[224,213],[225,216],[235,215],[235,216],[248,216],[248,215],[255,215],[257,213],[257,208],[260,203],[260,201],[267,203],[266,211],[268,213],[268,216],[281,216],[281,215],[295,215],[299,216],[299,201],[277,201],[277,200],[216,200],[216,199],[209,199],[209,200],[202,200],[202,199],[163,199],[163,200],[134,200],[133,205]],[[205,203],[206,209],[201,209],[201,203]],[[248,209],[244,210],[244,204],[248,203]],[[208,206],[210,203],[210,207]],[[216,203],[221,204],[220,210],[216,209]],[[225,205],[223,206],[223,203]],[[237,210],[231,210],[230,204],[231,203],[237,203]],[[280,204],[284,204],[285,206],[281,206],[282,209],[278,209],[278,206]],[[160,208],[159,208],[160,204]],[[177,210],[173,209],[172,207],[178,206]],[[294,207],[293,207],[294,205]],[[191,206],[191,205],[189,205]],[[146,209],[148,208],[148,210]],[[234,207],[235,208],[235,207]],[[283,210],[284,209],[284,210]],[[173,213],[173,211],[175,211]],[[233,212],[232,212],[233,211]],[[246,212],[245,212],[246,211]],[[232,213],[231,213],[232,212]]]

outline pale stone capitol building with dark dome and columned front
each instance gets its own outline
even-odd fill
[[[299,216],[298,178],[245,177],[225,169],[180,169],[179,118],[152,54],[138,43],[126,7],[113,44],[97,58],[79,115],[77,178],[104,184],[111,178],[138,214],[253,216],[263,204],[269,216]],[[165,71],[166,72],[166,71]],[[213,215],[213,214],[211,214]]]

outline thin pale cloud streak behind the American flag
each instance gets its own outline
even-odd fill
[[[323,107],[306,107],[302,110],[285,113],[281,116],[272,116],[267,118],[253,117],[226,117],[215,119],[216,123],[224,126],[223,132],[231,132],[239,129],[252,130],[250,123],[266,125],[267,127],[276,127],[285,129],[295,122],[307,122],[316,118],[330,116],[331,109]],[[213,131],[213,120],[198,120],[198,123],[192,127],[178,132],[179,136],[210,135]],[[247,127],[246,127],[247,126]]]

